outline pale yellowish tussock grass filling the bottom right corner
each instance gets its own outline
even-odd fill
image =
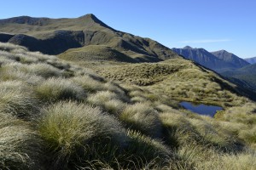
[[[182,157],[179,169],[199,169],[199,170],[233,170],[233,169],[254,169],[255,153],[242,152],[236,154],[218,153],[217,150],[203,146],[186,145],[177,153]],[[186,162],[185,164],[183,162]]]

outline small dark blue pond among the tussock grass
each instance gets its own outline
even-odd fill
[[[191,102],[183,101],[179,103],[182,105],[185,109],[189,111],[193,111],[195,113],[198,113],[200,115],[207,115],[207,116],[214,116],[217,111],[222,111],[223,108],[216,106],[216,105],[195,105]]]

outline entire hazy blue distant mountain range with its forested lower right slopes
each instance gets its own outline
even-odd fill
[[[225,50],[208,52],[204,48],[191,48],[189,46],[172,48],[172,50],[177,54],[183,55],[186,59],[194,60],[200,65],[217,71],[222,76],[228,78],[230,82],[256,91],[256,64],[250,65],[247,60],[241,59]],[[253,59],[248,61],[253,63]]]

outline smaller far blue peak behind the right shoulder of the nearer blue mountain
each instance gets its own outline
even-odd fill
[[[214,56],[216,56],[218,59],[224,60],[225,62],[231,63],[236,68],[241,68],[243,66],[249,65],[249,63],[236,56],[235,54],[231,54],[225,50],[215,51],[211,52]]]

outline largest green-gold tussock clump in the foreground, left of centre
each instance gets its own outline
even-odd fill
[[[51,155],[49,159],[58,169],[82,164],[81,161],[104,159],[101,155],[110,151],[112,144],[122,147],[126,141],[125,131],[112,116],[90,105],[73,102],[46,108],[38,130]]]

